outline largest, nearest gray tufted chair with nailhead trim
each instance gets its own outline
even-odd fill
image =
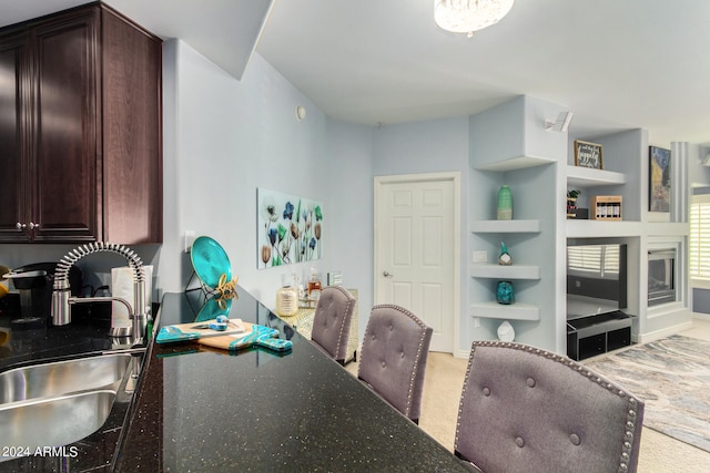
[[[633,472],[643,407],[567,357],[475,341],[454,449],[486,473]]]

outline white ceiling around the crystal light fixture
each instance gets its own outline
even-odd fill
[[[0,25],[83,2],[0,0]],[[237,79],[271,6],[106,2]],[[500,23],[470,39],[438,30],[433,3],[275,1],[256,51],[318,109],[347,122],[468,115],[528,94],[572,111],[576,135],[642,127],[656,145],[710,142],[710,1],[517,0]]]

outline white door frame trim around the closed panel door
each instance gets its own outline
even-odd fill
[[[379,202],[383,195],[382,188],[386,184],[403,184],[403,183],[424,183],[424,182],[442,182],[442,181],[450,181],[454,185],[454,228],[452,229],[452,234],[454,235],[454,260],[452,271],[453,271],[453,280],[454,280],[454,337],[453,340],[453,356],[458,357],[460,351],[459,349],[459,326],[460,326],[460,308],[462,308],[462,288],[460,288],[460,278],[462,278],[462,237],[460,237],[460,228],[462,228],[462,174],[460,172],[446,172],[446,173],[424,173],[424,174],[397,174],[390,176],[375,176],[375,185],[374,185],[374,233],[373,233],[373,300],[375,304],[378,300],[378,284],[377,278],[382,273],[382,268],[378,267],[377,261],[379,260],[379,249],[377,245],[377,240],[379,238],[381,229],[379,227],[379,218],[377,209],[379,208]]]

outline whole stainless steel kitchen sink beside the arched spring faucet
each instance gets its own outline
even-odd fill
[[[116,401],[128,402],[135,378],[130,353],[17,368],[0,373],[2,445],[37,449],[78,442],[104,425]],[[12,452],[10,454],[14,455]],[[10,460],[0,455],[0,462]]]

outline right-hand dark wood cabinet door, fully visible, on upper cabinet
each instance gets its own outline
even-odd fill
[[[60,16],[34,31],[34,240],[93,240],[101,185],[97,9]]]

